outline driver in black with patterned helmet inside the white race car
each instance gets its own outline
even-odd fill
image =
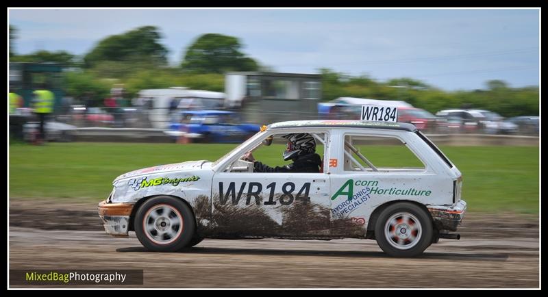
[[[286,138],[287,148],[283,153],[284,161],[291,159],[292,164],[271,167],[258,162],[251,152],[242,159],[253,162],[253,172],[320,172],[321,157],[316,154],[316,140],[309,133],[291,133],[282,136]]]

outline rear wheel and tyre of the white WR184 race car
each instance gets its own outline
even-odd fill
[[[418,205],[395,203],[386,207],[375,225],[379,247],[392,257],[414,257],[432,244],[432,218]]]

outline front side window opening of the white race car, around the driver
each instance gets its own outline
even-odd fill
[[[276,166],[286,166],[293,163],[292,159],[284,160],[284,151],[288,149],[288,140],[282,138],[282,136],[287,135],[287,133],[274,134],[272,141],[270,142],[267,138],[266,141],[262,142],[256,148],[251,150],[253,159],[258,162],[261,162],[264,165],[275,168]],[[321,142],[325,142],[326,133],[310,133],[314,136],[314,141],[316,143],[315,153],[319,155],[319,160],[323,164],[323,156],[325,155],[325,146]],[[293,148],[290,148],[293,149]],[[246,162],[245,154],[238,157],[238,159],[233,162],[229,168],[229,172],[253,172],[253,163]],[[321,170],[322,168],[320,168]],[[321,171],[320,171],[321,172]],[[299,172],[296,172],[299,173]]]

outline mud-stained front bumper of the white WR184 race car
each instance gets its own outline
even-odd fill
[[[103,220],[106,233],[114,237],[127,237],[129,216],[134,205],[128,203],[107,203],[101,201],[98,205],[99,217]]]

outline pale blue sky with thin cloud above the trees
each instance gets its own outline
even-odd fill
[[[243,52],[278,72],[325,67],[444,90],[485,88],[489,79],[539,83],[537,9],[10,9],[9,23],[20,54],[82,55],[106,36],[155,25],[174,65],[198,36],[219,33],[240,38]]]

